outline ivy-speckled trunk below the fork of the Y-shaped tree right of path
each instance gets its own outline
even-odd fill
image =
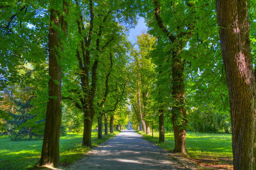
[[[187,114],[185,110],[185,85],[183,82],[184,62],[179,50],[173,51],[173,87],[172,95],[174,106],[172,109],[172,121],[174,126],[174,153],[188,154],[186,150],[186,125]]]

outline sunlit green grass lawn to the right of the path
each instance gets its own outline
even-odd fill
[[[174,149],[173,132],[165,133],[165,143],[158,142],[158,133],[154,132],[153,138],[145,135],[143,131],[138,131],[138,133],[165,150],[172,151]],[[190,154],[189,157],[202,164],[232,166],[231,137],[231,134],[186,132],[186,147]]]

